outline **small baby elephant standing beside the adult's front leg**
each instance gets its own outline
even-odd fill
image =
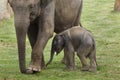
[[[86,29],[75,26],[57,34],[53,39],[51,57],[46,66],[51,63],[54,53],[58,54],[62,49],[64,49],[65,64],[68,69],[75,69],[74,55],[77,52],[82,63],[82,71],[97,71],[95,40]],[[90,59],[90,66],[87,65],[87,57]]]

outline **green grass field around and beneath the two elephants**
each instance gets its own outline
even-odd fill
[[[97,73],[77,70],[66,71],[61,64],[63,54],[42,72],[34,75],[21,74],[18,66],[17,44],[13,18],[0,21],[0,80],[120,80],[120,13],[113,12],[114,0],[84,0],[82,25],[90,30],[97,44]],[[45,51],[49,60],[51,40]],[[30,61],[30,45],[27,40],[27,63]],[[89,61],[88,61],[89,62]]]

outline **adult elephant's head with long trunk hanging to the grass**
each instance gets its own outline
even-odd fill
[[[40,15],[40,0],[8,0],[8,2],[14,12],[20,71],[25,73],[26,34],[30,23]]]

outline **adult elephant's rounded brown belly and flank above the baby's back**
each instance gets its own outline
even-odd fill
[[[59,33],[72,26],[79,15],[81,0],[56,0],[55,32]]]

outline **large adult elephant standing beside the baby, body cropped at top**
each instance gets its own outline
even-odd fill
[[[53,33],[79,25],[82,0],[8,0],[13,12],[22,73],[35,73],[45,66],[43,50]],[[25,46],[28,35],[32,54],[26,69]]]

